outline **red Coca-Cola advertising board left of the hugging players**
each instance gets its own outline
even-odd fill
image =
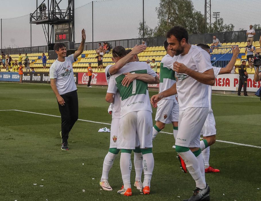
[[[88,84],[88,73],[78,73],[78,84]],[[91,76],[91,85],[108,85],[105,73],[93,73]]]

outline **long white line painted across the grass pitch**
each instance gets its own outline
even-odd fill
[[[61,117],[61,116],[57,116],[57,115],[49,115],[49,114],[30,112],[30,111],[24,111],[24,110],[0,110],[0,111],[18,111],[18,112],[26,112],[26,113],[31,113],[31,114],[37,114],[37,115],[46,115],[46,116],[50,116],[50,117]],[[104,122],[99,122],[99,121],[89,121],[89,120],[85,120],[85,119],[78,119],[78,120],[79,121],[87,121],[87,122],[91,122],[91,123],[100,123],[100,124],[111,125],[110,123],[104,123]],[[164,132],[164,131],[161,131],[161,133],[173,135],[173,133],[168,133],[168,132]],[[216,141],[217,142],[224,142],[224,143],[228,143],[228,144],[236,144],[236,145],[240,145],[240,146],[261,148],[261,146],[255,146],[255,145],[250,145],[250,144],[241,144],[241,143],[237,143],[237,142],[229,142],[229,141],[224,141],[224,140],[216,140]]]

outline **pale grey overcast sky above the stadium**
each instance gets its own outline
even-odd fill
[[[41,2],[42,0],[38,0],[38,4]],[[67,2],[67,0],[61,1],[61,9],[66,9]],[[86,42],[92,41],[92,31],[94,42],[138,38],[139,22],[142,22],[143,16],[142,2],[143,0],[94,1],[94,30],[92,30],[91,1],[75,0],[75,8],[77,8],[75,9],[75,42],[80,42],[82,28],[86,30]],[[158,22],[155,8],[159,2],[160,0],[144,0],[144,20],[153,29]],[[192,0],[192,2],[194,8],[204,14],[204,0]],[[0,18],[3,19],[2,47],[30,47],[28,14],[35,11],[36,0],[0,0],[0,5]],[[261,24],[258,5],[260,0],[211,0],[211,12],[220,12],[224,23],[233,24],[235,30],[247,30],[250,24]],[[247,11],[249,6],[252,14]],[[213,17],[211,20],[215,21]],[[44,32],[41,25],[32,24],[32,46],[39,45],[46,45]]]

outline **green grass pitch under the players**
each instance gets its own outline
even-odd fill
[[[150,96],[156,92],[149,92]],[[48,84],[0,83],[0,110],[23,110],[60,116]],[[79,119],[111,123],[106,88],[78,87]],[[259,98],[212,96],[217,140],[261,146]],[[153,109],[153,118],[156,110]],[[160,133],[153,142],[155,167],[151,194],[117,194],[122,185],[118,155],[109,174],[113,191],[100,190],[102,164],[109,148],[110,127],[77,121],[69,134],[69,151],[61,150],[61,119],[19,111],[0,111],[0,200],[183,200],[195,183],[180,170],[174,138]],[[172,132],[171,125],[163,130]],[[207,173],[214,201],[261,200],[261,149],[224,142],[211,146]],[[84,165],[83,165],[84,163]],[[43,179],[43,180],[42,180]],[[133,166],[131,183],[134,183]],[[34,185],[34,184],[37,185]],[[40,185],[43,185],[40,187]],[[85,190],[85,192],[83,192]]]

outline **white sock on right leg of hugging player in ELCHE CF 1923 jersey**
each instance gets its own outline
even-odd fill
[[[144,172],[143,187],[145,186],[150,187],[153,168],[154,168],[153,154],[152,153],[143,154],[143,172]]]

